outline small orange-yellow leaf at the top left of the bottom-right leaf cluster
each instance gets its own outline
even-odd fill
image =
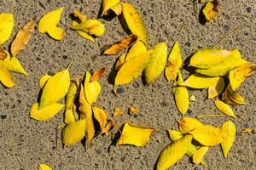
[[[189,133],[190,131],[203,126],[203,124],[191,117],[184,117],[181,120],[177,120],[178,128],[182,133]]]

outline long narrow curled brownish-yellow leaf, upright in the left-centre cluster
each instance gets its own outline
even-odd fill
[[[90,148],[90,142],[95,135],[95,127],[93,122],[93,114],[91,110],[90,104],[85,99],[84,95],[84,87],[81,84],[80,94],[79,94],[79,111],[80,111],[80,119],[85,119],[86,129],[85,129],[85,139],[86,139],[86,147]]]

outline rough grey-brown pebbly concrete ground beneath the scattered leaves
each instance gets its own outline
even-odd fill
[[[182,116],[178,113],[172,97],[172,82],[166,82],[161,75],[150,86],[143,86],[141,79],[125,85],[125,92],[115,97],[111,90],[113,85],[108,83],[108,74],[118,56],[100,56],[100,48],[125,37],[125,31],[119,25],[119,20],[102,20],[106,32],[96,42],[90,42],[79,37],[70,30],[69,14],[74,9],[86,14],[90,19],[96,18],[101,0],[0,0],[1,13],[15,14],[15,32],[20,30],[28,20],[37,16],[37,20],[50,10],[65,7],[59,26],[64,28],[67,35],[61,41],[55,41],[46,35],[34,31],[31,41],[18,58],[26,68],[29,76],[13,74],[15,88],[0,86],[0,169],[38,169],[38,163],[46,163],[53,169],[154,169],[154,164],[166,144],[170,143],[166,129],[177,129],[176,120]],[[158,42],[168,41],[170,52],[175,41],[179,41],[183,59],[195,53],[199,48],[212,47],[224,34],[241,26],[241,31],[221,43],[219,48],[238,48],[242,56],[251,62],[256,62],[256,3],[255,0],[219,1],[218,20],[202,26],[198,14],[194,12],[192,0],[125,0],[137,7],[148,30],[149,45],[154,47]],[[179,28],[185,25],[180,30]],[[4,44],[8,47],[11,39]],[[105,67],[107,74],[102,78],[102,94],[97,105],[101,105],[110,116],[115,107],[127,112],[130,105],[137,105],[141,115],[137,117],[120,116],[119,126],[124,122],[134,122],[141,125],[155,127],[149,143],[142,148],[129,145],[119,147],[110,145],[111,136],[94,139],[90,150],[84,151],[80,143],[66,149],[55,147],[55,127],[59,122],[64,125],[63,111],[46,122],[38,122],[29,118],[31,105],[38,98],[39,77],[49,71],[60,71],[70,67],[72,78],[83,76],[84,71],[96,70]],[[188,72],[183,70],[184,77]],[[246,105],[234,106],[239,118],[232,120],[238,131],[245,127],[255,127],[256,116],[256,74],[242,84],[239,91],[247,99]],[[206,90],[190,90],[195,94],[196,102],[190,103],[192,116],[218,113],[212,100],[206,99]],[[7,117],[6,117],[7,116]],[[189,115],[188,115],[189,116]],[[215,126],[221,126],[227,117],[201,118],[200,120]],[[117,129],[114,130],[114,133]],[[59,136],[61,131],[59,131]],[[61,144],[61,141],[60,141]],[[236,137],[234,146],[230,150],[229,158],[224,159],[221,148],[213,147],[205,156],[209,169],[256,169],[256,134],[241,134]],[[172,169],[205,169],[190,163],[184,156]]]

